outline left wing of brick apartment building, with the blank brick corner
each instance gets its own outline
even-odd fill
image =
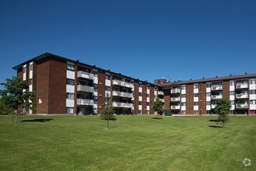
[[[36,110],[23,109],[30,114],[101,113],[107,94],[116,114],[153,114],[154,100],[164,97],[150,82],[55,54],[41,54],[13,69],[28,82],[23,91],[35,92]]]

